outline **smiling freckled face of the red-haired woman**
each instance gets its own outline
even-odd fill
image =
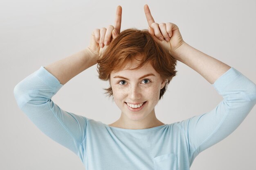
[[[165,81],[162,80],[160,74],[155,71],[150,63],[139,70],[126,70],[130,64],[132,64],[131,68],[135,68],[139,61],[134,60],[132,63],[128,63],[124,70],[110,74],[114,101],[121,109],[121,117],[133,121],[147,118],[146,120],[150,121],[150,118],[153,118],[152,114],[155,114],[154,108],[159,101],[160,89],[164,87]],[[154,74],[155,76],[150,75],[140,78],[146,74]],[[131,111],[126,104],[126,102],[141,103],[145,101],[144,107],[141,107],[139,111]]]

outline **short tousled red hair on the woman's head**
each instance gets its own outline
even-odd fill
[[[167,89],[167,85],[176,75],[177,60],[157,44],[146,29],[126,29],[111,41],[103,52],[102,57],[97,60],[99,79],[108,81],[111,72],[122,70],[138,54],[142,56],[140,64],[136,68],[129,70],[136,70],[148,62],[151,63],[161,78],[166,80],[164,88],[160,90],[160,100]],[[108,94],[108,96],[113,95],[111,86],[104,90],[106,90],[105,94]]]

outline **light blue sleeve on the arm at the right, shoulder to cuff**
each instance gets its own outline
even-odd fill
[[[211,111],[178,124],[187,137],[190,164],[200,152],[234,132],[256,104],[256,85],[233,67],[212,86],[223,100]]]

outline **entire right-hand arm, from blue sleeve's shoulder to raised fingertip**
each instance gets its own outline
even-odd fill
[[[175,123],[184,132],[191,165],[200,152],[225,139],[243,122],[256,104],[256,85],[235,68],[186,44],[175,24],[155,23],[147,5],[144,10],[155,41],[201,74],[223,97],[210,111]]]

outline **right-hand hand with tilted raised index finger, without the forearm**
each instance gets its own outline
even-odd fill
[[[171,22],[157,24],[154,21],[147,4],[144,5],[144,11],[148,21],[148,32],[150,35],[153,36],[155,41],[157,41],[164,50],[173,54],[175,50],[184,43],[177,25]]]

